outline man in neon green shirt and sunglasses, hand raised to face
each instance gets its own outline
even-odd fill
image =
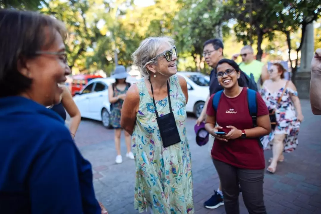
[[[253,73],[254,79],[258,83],[258,85],[263,84],[265,80],[269,79],[267,67],[264,65],[264,63],[254,58],[254,51],[251,46],[244,46],[241,49],[241,53],[234,54],[232,56],[232,59],[236,60],[238,56],[242,57],[242,62],[241,64],[239,64],[239,68],[248,76]]]

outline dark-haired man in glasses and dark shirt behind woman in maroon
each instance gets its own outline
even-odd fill
[[[219,84],[216,78],[216,70],[215,70],[217,63],[221,59],[223,59],[223,48],[224,46],[220,39],[209,39],[204,43],[204,46],[203,46],[203,56],[205,58],[205,61],[213,69],[210,73],[210,94],[204,104],[201,115],[196,120],[196,124],[198,125],[205,120],[206,107],[211,95],[216,93],[217,91],[223,90],[223,87]],[[240,78],[242,78],[243,79],[242,82],[245,83],[245,85],[243,86],[247,87],[245,73],[241,72]],[[214,138],[210,137],[208,142],[210,154],[213,147],[213,142],[214,142]],[[214,190],[214,195],[212,195],[212,197],[209,200],[204,202],[204,206],[207,209],[216,209],[219,206],[224,205],[223,194],[221,190],[222,189],[220,184],[217,191]]]

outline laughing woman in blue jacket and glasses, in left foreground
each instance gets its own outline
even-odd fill
[[[70,74],[64,24],[0,10],[0,212],[100,214],[91,164],[46,106]]]

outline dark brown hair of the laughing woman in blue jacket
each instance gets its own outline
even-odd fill
[[[15,96],[32,80],[18,71],[18,61],[48,49],[58,32],[65,40],[65,25],[54,17],[30,11],[0,10],[0,97]]]

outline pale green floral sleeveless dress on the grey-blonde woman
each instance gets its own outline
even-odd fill
[[[191,153],[186,135],[186,98],[176,75],[169,78],[172,111],[181,142],[163,147],[152,97],[144,78],[137,83],[140,95],[132,142],[136,165],[134,207],[154,214],[193,214]],[[168,97],[156,101],[160,116],[169,113]]]

